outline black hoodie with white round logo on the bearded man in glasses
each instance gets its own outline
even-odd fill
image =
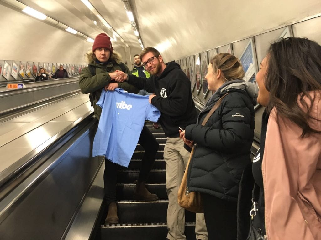
[[[128,76],[128,82],[139,89],[153,92],[152,105],[160,112],[160,124],[165,135],[179,136],[178,127],[185,129],[196,122],[197,113],[192,100],[191,83],[175,61],[166,64],[160,76],[149,78]]]

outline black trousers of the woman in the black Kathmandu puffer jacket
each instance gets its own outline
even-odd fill
[[[201,194],[208,240],[236,240],[237,203]]]

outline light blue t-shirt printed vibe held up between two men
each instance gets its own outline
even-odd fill
[[[121,88],[102,90],[97,102],[102,112],[92,156],[105,155],[109,161],[128,167],[145,120],[157,122],[160,117],[160,111],[148,99]]]

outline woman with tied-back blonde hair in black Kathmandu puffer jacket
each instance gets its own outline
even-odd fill
[[[256,84],[241,80],[244,71],[229,53],[215,55],[205,78],[215,93],[198,116],[197,123],[181,132],[187,149],[196,144],[187,176],[190,192],[200,192],[209,240],[235,240],[239,181],[251,162],[254,136]],[[225,94],[219,108],[202,126],[207,113]]]

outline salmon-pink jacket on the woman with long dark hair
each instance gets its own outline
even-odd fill
[[[321,91],[314,94],[310,116],[321,120]],[[276,119],[273,108],[262,162],[268,240],[321,240],[321,134],[300,138],[298,125]],[[321,131],[320,121],[309,123]]]

